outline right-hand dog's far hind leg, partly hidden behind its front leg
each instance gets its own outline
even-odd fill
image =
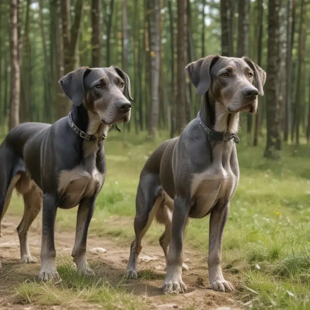
[[[162,204],[159,206],[156,220],[158,223],[165,225],[165,231],[159,238],[159,244],[164,251],[166,262],[168,257],[169,251],[169,244],[171,240],[171,223],[172,223],[172,210],[173,210],[173,200],[166,194],[164,190],[162,190],[163,201]],[[182,270],[187,271],[188,266],[183,263]]]

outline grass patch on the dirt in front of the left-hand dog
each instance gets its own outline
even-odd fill
[[[132,298],[124,290],[113,288],[103,278],[80,276],[70,265],[58,266],[62,278],[60,283],[26,281],[17,288],[17,293],[29,303],[59,305],[69,308],[73,303],[96,303],[104,309],[143,309],[144,302]]]

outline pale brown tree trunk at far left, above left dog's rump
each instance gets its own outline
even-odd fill
[[[11,51],[11,105],[9,129],[19,124],[20,103],[20,62],[18,53],[17,29],[18,1],[11,0],[10,7],[10,51]]]

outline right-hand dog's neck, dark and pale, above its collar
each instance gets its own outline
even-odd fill
[[[209,91],[203,96],[200,117],[208,128],[223,134],[235,134],[239,128],[239,113],[229,113],[223,104],[210,95]]]

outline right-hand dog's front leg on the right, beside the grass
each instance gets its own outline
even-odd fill
[[[222,273],[222,238],[228,218],[229,202],[217,203],[210,214],[208,268],[211,288],[219,292],[231,292],[232,284]]]

